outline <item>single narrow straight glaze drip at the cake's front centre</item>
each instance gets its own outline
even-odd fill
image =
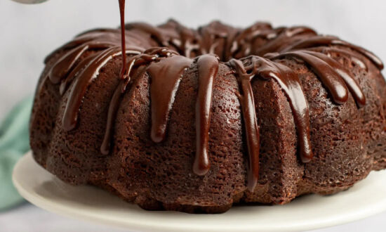
[[[211,167],[208,157],[208,141],[211,123],[213,81],[218,72],[218,65],[218,56],[203,55],[197,58],[199,91],[196,103],[197,146],[193,172],[200,176],[205,175],[209,167]]]

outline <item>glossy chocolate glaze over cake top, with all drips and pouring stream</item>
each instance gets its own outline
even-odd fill
[[[38,91],[47,80],[60,85],[60,94],[67,96],[63,129],[70,131],[76,128],[89,86],[98,78],[102,67],[121,56],[121,72],[117,77],[119,84],[110,100],[100,152],[108,155],[112,150],[121,98],[131,88],[133,80],[142,75],[149,75],[150,79],[152,127],[149,136],[154,143],[162,143],[166,139],[168,119],[180,81],[187,69],[197,67],[197,144],[192,171],[205,175],[211,166],[208,142],[213,85],[220,57],[223,62],[229,60],[225,64],[234,70],[239,83],[238,98],[249,157],[249,191],[253,191],[258,183],[260,136],[264,136],[260,135],[258,128],[258,111],[251,86],[254,78],[272,79],[281,86],[293,112],[298,155],[302,162],[310,162],[313,153],[307,99],[298,75],[284,65],[283,60],[293,58],[296,62],[305,63],[324,84],[335,103],[345,103],[351,94],[358,107],[366,104],[363,91],[350,70],[331,58],[331,54],[346,56],[364,70],[367,70],[364,59],[371,60],[379,69],[383,67],[373,53],[337,37],[317,35],[308,27],[272,28],[268,23],[257,22],[241,30],[212,22],[199,30],[192,30],[175,20],[159,27],[143,22],[124,25],[124,5],[125,1],[119,0],[120,29],[98,29],[79,34],[45,60],[47,63],[56,54],[61,54],[46,79],[41,81]]]

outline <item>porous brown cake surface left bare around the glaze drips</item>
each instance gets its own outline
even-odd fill
[[[362,106],[350,91],[345,103],[336,103],[331,91],[321,82],[317,67],[291,54],[281,56],[292,51],[288,47],[301,39],[317,36],[307,27],[300,27],[302,32],[298,34],[288,33],[296,28],[272,28],[257,23],[241,30],[213,22],[199,30],[190,30],[173,20],[159,27],[142,23],[126,25],[130,37],[126,42],[128,46],[143,49],[167,46],[182,56],[215,53],[220,57],[222,62],[213,78],[210,108],[210,168],[204,175],[192,170],[198,139],[196,110],[200,71],[197,62],[192,62],[182,73],[173,107],[167,115],[163,141],[156,143],[150,136],[150,94],[154,83],[148,70],[152,64],[145,63],[135,67],[117,110],[111,111],[116,112],[111,149],[107,155],[101,153],[101,144],[108,130],[109,108],[121,83],[120,56],[112,57],[100,67],[96,77],[86,86],[84,95],[79,97],[81,105],[76,108],[79,110],[76,111],[76,127],[66,129],[63,125],[66,108],[69,98],[76,94],[74,86],[79,82],[76,78],[81,70],[67,88],[62,87],[62,94],[60,83],[71,76],[69,73],[82,60],[100,53],[101,48],[86,48],[72,60],[72,70],[66,70],[66,66],[58,63],[79,44],[90,42],[79,39],[85,34],[94,36],[100,33],[95,36],[97,39],[106,37],[100,41],[119,43],[114,37],[114,34],[119,36],[119,30],[94,30],[80,35],[76,42],[48,56],[39,80],[30,124],[31,147],[36,162],[62,181],[105,188],[147,210],[218,213],[229,210],[237,202],[284,204],[308,193],[325,195],[350,188],[371,170],[386,167],[386,84],[380,73],[382,65],[368,53],[347,44],[319,43],[301,48],[328,54],[336,60],[359,84],[366,97],[366,104]],[[261,36],[255,36],[259,33]],[[236,50],[232,50],[235,46],[232,44],[238,46]],[[258,182],[251,191],[247,188],[251,161],[246,141],[248,132],[241,110],[238,81],[241,74],[232,63],[224,62],[231,58],[274,52],[279,54],[267,56],[269,62],[289,67],[300,79],[308,104],[314,157],[309,162],[300,159],[298,124],[282,86],[274,79],[252,79],[260,133],[260,160]],[[128,54],[128,58],[133,56]],[[253,58],[246,58],[243,63],[247,66],[253,63]],[[55,82],[52,75],[58,67],[63,77],[60,82]],[[81,68],[86,69],[86,66]]]

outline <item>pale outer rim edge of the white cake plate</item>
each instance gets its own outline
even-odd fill
[[[20,183],[20,180],[18,179],[18,175],[20,175],[20,169],[22,165],[32,165],[32,162],[34,162],[34,165],[39,166],[41,169],[40,165],[38,165],[35,161],[34,158],[32,157],[32,151],[29,151],[25,155],[23,155],[20,160],[16,163],[14,169],[13,169],[13,174],[12,174],[12,180],[15,188],[18,190],[20,195],[22,195],[25,200],[31,202],[33,205],[36,205],[36,207],[40,207],[44,210],[47,210],[48,212],[53,212],[55,214],[60,214],[65,217],[70,217],[73,219],[81,219],[84,221],[88,221],[91,223],[96,223],[96,224],[103,224],[103,225],[109,225],[109,226],[114,226],[116,228],[126,228],[126,229],[131,229],[131,230],[149,230],[149,231],[256,231],[257,228],[253,227],[251,224],[250,225],[243,225],[240,228],[240,225],[228,225],[227,227],[220,227],[220,228],[208,228],[206,224],[204,226],[200,226],[199,224],[195,224],[193,228],[187,228],[186,225],[184,224],[163,224],[162,226],[159,226],[158,224],[154,224],[151,221],[146,221],[146,220],[140,220],[140,221],[133,221],[131,220],[130,223],[122,223],[122,221],[116,219],[114,220],[113,218],[104,218],[98,213],[91,213],[88,212],[88,214],[85,214],[84,211],[82,210],[77,210],[76,208],[66,206],[60,202],[55,202],[54,200],[47,200],[46,198],[42,197],[41,195],[38,195],[36,193],[30,193],[27,191],[27,189],[22,186],[22,183]],[[44,171],[46,171],[44,169]],[[381,171],[381,172],[386,172]],[[53,174],[49,173],[46,171],[47,174],[50,174],[53,176]],[[56,179],[58,179],[55,176]],[[128,203],[130,204],[130,203]],[[138,206],[137,206],[138,207]],[[347,214],[342,215],[340,218],[334,218],[333,220],[326,220],[326,219],[321,219],[317,222],[310,223],[310,222],[305,222],[305,223],[298,223],[298,224],[290,224],[286,226],[282,226],[280,224],[277,225],[272,225],[268,227],[260,227],[258,228],[259,231],[304,231],[304,230],[314,230],[318,228],[326,228],[326,227],[331,227],[331,226],[337,226],[340,224],[347,224],[352,221],[357,221],[359,219],[365,219],[366,217],[371,217],[375,214],[380,214],[381,212],[386,210],[386,200],[383,202],[380,202],[380,204],[376,205],[375,207],[372,207],[371,209],[367,210],[361,210],[359,212],[348,212]],[[181,212],[179,212],[181,213]],[[182,214],[186,214],[183,213]],[[186,214],[186,215],[197,215],[197,214]],[[203,214],[206,215],[206,214]],[[212,214],[212,215],[222,215],[222,214]],[[219,216],[220,217],[220,216]],[[191,225],[189,225],[191,226]]]

